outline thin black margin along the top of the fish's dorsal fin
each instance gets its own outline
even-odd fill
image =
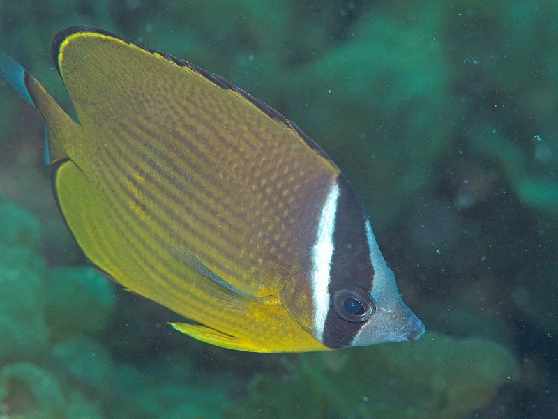
[[[254,96],[250,95],[250,93],[246,93],[239,87],[229,82],[227,79],[223,79],[223,77],[213,74],[211,73],[211,71],[204,70],[203,68],[198,67],[195,64],[190,63],[186,60],[180,59],[174,55],[167,54],[166,52],[158,51],[157,49],[146,47],[145,45],[136,43],[135,41],[130,40],[128,38],[123,38],[121,36],[115,35],[112,32],[104,31],[103,29],[98,29],[95,26],[86,26],[86,25],[68,26],[67,28],[62,29],[61,31],[56,33],[56,35],[52,40],[50,52],[52,54],[52,61],[54,61],[54,65],[56,66],[56,69],[58,70],[58,73],[60,75],[61,75],[60,66],[59,66],[60,45],[63,43],[63,41],[66,38],[68,38],[68,36],[71,36],[77,32],[100,33],[102,35],[119,39],[127,44],[135,45],[136,47],[144,49],[145,51],[150,52],[151,54],[158,54],[162,56],[167,61],[176,64],[176,66],[189,68],[190,70],[201,75],[202,77],[209,80],[211,83],[215,84],[216,86],[219,86],[221,89],[230,89],[235,93],[238,93],[244,99],[248,100],[248,102],[252,103],[252,105],[257,107],[257,109],[264,112],[264,114],[269,116],[271,119],[275,119],[276,121],[279,121],[287,128],[292,130],[296,135],[299,135],[299,137],[301,137],[304,140],[304,142],[306,142],[306,144],[308,144],[308,146],[312,148],[312,150],[316,151],[319,155],[321,155],[323,158],[325,158],[335,166],[335,163],[324,152],[322,147],[320,147],[313,139],[308,137],[308,135],[306,135],[306,133],[303,132],[303,130],[301,130],[293,121],[290,121],[289,119],[285,118],[285,116],[282,116],[282,114],[276,111],[276,109],[273,109],[273,107],[267,105],[265,102],[262,102],[262,100],[258,100],[254,98]]]

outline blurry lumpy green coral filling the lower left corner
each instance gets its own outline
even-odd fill
[[[0,220],[0,418],[220,417],[216,377],[198,381],[172,353],[115,358],[103,343],[111,282],[89,266],[45,266],[37,219],[3,196]]]

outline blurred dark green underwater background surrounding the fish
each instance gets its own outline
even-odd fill
[[[417,342],[220,349],[97,273],[0,82],[0,418],[558,417],[558,2],[0,1],[0,50],[66,109],[52,36],[91,24],[292,119],[370,215]],[[71,111],[70,111],[71,112]]]

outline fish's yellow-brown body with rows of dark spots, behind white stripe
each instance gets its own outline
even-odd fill
[[[327,350],[282,295],[299,287],[323,204],[304,198],[327,190],[337,167],[239,91],[114,36],[70,33],[58,66],[79,124],[34,79],[27,89],[62,160],[56,195],[86,256],[186,317],[173,326],[199,340]],[[255,298],[223,303],[173,247]],[[308,292],[297,298],[294,307],[312,305]]]

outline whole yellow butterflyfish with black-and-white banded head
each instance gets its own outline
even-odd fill
[[[297,125],[227,80],[107,31],[56,34],[77,121],[19,63],[45,162],[86,257],[198,340],[255,352],[418,339],[367,215]]]

